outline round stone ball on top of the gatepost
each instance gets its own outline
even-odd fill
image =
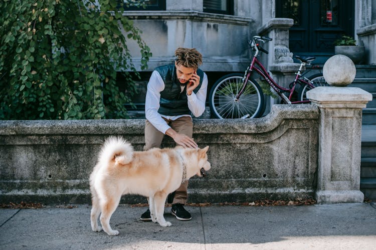
[[[346,86],[355,78],[355,64],[343,54],[330,57],[322,68],[326,82],[331,86]]]

